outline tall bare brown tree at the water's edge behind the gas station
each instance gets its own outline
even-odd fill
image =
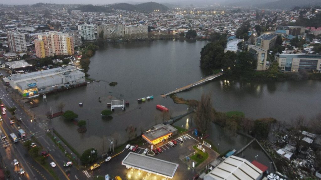
[[[198,103],[195,124],[199,131],[206,134],[210,122],[213,120],[212,97],[210,94],[202,94],[201,101]]]

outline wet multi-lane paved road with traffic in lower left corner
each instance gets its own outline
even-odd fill
[[[11,89],[11,88],[9,88]],[[13,100],[13,98],[11,97],[10,93],[8,93],[8,91],[10,91],[9,89],[7,89],[7,86],[4,86],[3,83],[0,83],[0,98],[2,98],[1,100],[4,102],[5,106],[7,106],[8,108],[10,107],[16,107],[16,118],[20,119],[22,118],[22,122],[15,122],[16,125],[9,125],[8,128],[8,132],[10,131],[17,131],[17,127],[21,126],[22,129],[25,130],[25,132],[27,132],[27,134],[30,136],[31,134],[35,134],[35,137],[38,139],[38,141],[41,143],[41,145],[44,147],[44,149],[46,151],[48,151],[50,153],[50,156],[48,157],[47,161],[50,162],[55,162],[57,167],[53,168],[54,171],[56,172],[56,174],[58,175],[59,179],[67,179],[69,180],[70,178],[68,177],[67,173],[65,173],[65,171],[67,170],[67,168],[63,167],[63,163],[67,162],[68,159],[65,157],[65,155],[63,154],[63,152],[60,149],[57,149],[56,145],[48,138],[47,135],[45,135],[45,127],[46,127],[46,122],[39,122],[35,120],[31,121],[30,117],[27,115],[27,113],[25,113],[25,111]],[[9,119],[11,117],[11,114],[8,112],[7,113],[8,117],[5,117],[5,122],[9,123]],[[10,134],[10,133],[9,133]],[[17,133],[15,133],[17,134]],[[26,141],[28,139],[23,139],[23,141]],[[18,143],[19,144],[19,143]],[[16,145],[16,144],[15,144]],[[19,147],[19,151],[25,151],[25,149],[22,147],[22,144],[20,144],[21,147]],[[17,148],[16,148],[17,149]],[[24,154],[26,154],[27,152],[25,151]],[[15,154],[15,153],[13,153]],[[18,153],[19,154],[19,153]],[[40,172],[43,176],[46,177],[46,179],[52,179],[52,177],[48,177],[45,174],[48,174],[47,171],[45,171],[43,168],[37,168],[32,170],[33,167],[37,167],[37,163],[34,161],[30,161],[30,166],[28,165],[28,163],[26,163],[26,167],[28,167],[28,174],[31,174],[32,176],[36,176],[36,172]],[[39,166],[39,165],[38,165]],[[26,169],[26,168],[25,168]],[[39,174],[39,173],[38,173]],[[41,176],[41,175],[40,175]],[[41,176],[42,177],[42,176]],[[82,173],[82,171],[77,170],[75,167],[71,167],[70,168],[70,177],[73,177],[72,179],[76,179],[76,177],[78,179],[86,179],[86,176]],[[36,176],[37,178],[37,176]],[[32,179],[32,178],[31,178]],[[42,178],[38,178],[38,179],[44,179]]]

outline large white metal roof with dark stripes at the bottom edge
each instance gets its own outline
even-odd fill
[[[205,175],[204,180],[256,180],[262,173],[249,161],[230,156]]]

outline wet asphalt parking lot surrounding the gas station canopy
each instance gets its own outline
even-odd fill
[[[181,180],[181,179],[191,180],[193,179],[193,176],[196,174],[196,172],[191,167],[188,167],[188,165],[182,160],[187,155],[195,151],[192,148],[192,146],[198,142],[194,138],[192,138],[192,136],[190,135],[185,135],[185,137],[177,136],[175,137],[175,139],[177,139],[178,137],[182,137],[183,142],[179,142],[176,140],[177,144],[174,146],[171,146],[169,145],[169,141],[166,141],[160,146],[156,146],[161,148],[160,153],[155,154],[154,152],[150,151],[151,147],[149,145],[138,147],[134,152],[143,154],[144,150],[148,148],[149,152],[147,154],[149,156],[153,158],[177,163],[179,165],[173,180]],[[173,140],[173,139],[170,139],[170,140]],[[145,179],[145,180],[165,179],[164,177],[150,174],[142,170],[137,170],[132,168],[126,169],[125,166],[121,165],[121,161],[124,160],[124,158],[130,151],[131,150],[129,149],[125,149],[122,153],[112,158],[109,162],[102,163],[99,169],[92,171],[92,176],[109,174],[109,176],[112,176],[112,177],[120,176],[122,179]]]

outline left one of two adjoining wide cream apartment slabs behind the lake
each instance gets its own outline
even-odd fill
[[[122,24],[102,24],[97,26],[98,37],[101,37],[103,33],[103,38],[107,39],[114,35],[118,37],[124,36],[124,26]]]

